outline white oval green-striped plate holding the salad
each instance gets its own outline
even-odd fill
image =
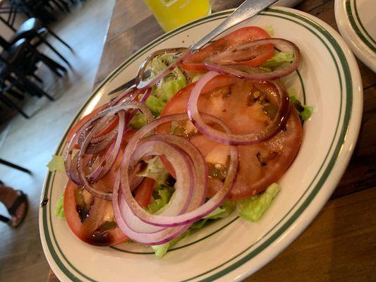
[[[196,20],[140,49],[102,82],[68,129],[106,102],[109,90],[131,80],[147,54],[188,47],[230,13]],[[245,25],[272,25],[275,37],[298,45],[302,63],[286,85],[295,87],[314,107],[304,124],[301,150],[279,181],[282,190],[272,206],[258,223],[229,216],[181,240],[157,259],[150,249],[133,243],[114,248],[81,242],[64,219],[54,216],[66,176],[47,173],[42,198],[49,202],[40,208],[40,235],[47,260],[61,281],[239,281],[291,244],[327,202],[348,164],[360,126],[363,92],[353,54],[332,27],[290,8],[269,9],[241,24]],[[65,148],[64,135],[56,154]]]

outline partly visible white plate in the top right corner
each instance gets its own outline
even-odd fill
[[[356,56],[376,72],[376,1],[336,0],[339,32]]]

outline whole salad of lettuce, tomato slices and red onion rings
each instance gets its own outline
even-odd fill
[[[129,241],[157,257],[233,212],[258,221],[312,114],[280,80],[300,59],[293,42],[255,26],[193,54],[154,52],[135,86],[81,118],[48,165],[68,176],[56,216],[85,243]]]

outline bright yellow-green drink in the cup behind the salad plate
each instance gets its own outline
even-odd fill
[[[210,14],[209,0],[144,0],[164,31]]]

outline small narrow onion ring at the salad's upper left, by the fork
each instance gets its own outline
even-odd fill
[[[164,76],[167,73],[169,73],[174,68],[176,68],[176,66],[178,66],[178,64],[180,64],[181,61],[183,61],[183,59],[186,59],[186,56],[188,56],[188,54],[189,54],[189,51],[188,52],[187,51],[188,51],[188,48],[185,48],[185,47],[169,48],[169,49],[162,49],[162,50],[154,51],[152,54],[147,56],[145,61],[143,61],[141,63],[140,68],[138,69],[138,74],[136,75],[136,78],[135,78],[136,87],[139,90],[145,90],[147,88],[152,87],[159,80],[164,78]],[[164,54],[164,53],[181,53],[181,56],[179,56],[178,59],[176,59],[176,61],[174,61],[174,63],[171,63],[171,65],[168,66],[161,73],[158,73],[157,75],[155,75],[153,78],[150,78],[149,80],[142,81],[142,78],[143,78],[144,73],[145,73],[145,69],[146,69],[147,65],[150,63],[150,61],[152,61],[152,59],[154,59],[156,56],[159,56],[159,55]]]

